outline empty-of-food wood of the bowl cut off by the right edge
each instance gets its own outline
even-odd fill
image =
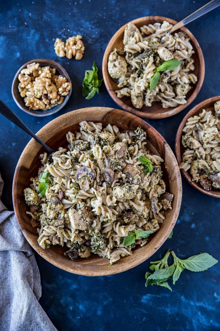
[[[182,145],[182,130],[183,130],[184,126],[186,125],[187,119],[191,116],[198,115],[203,109],[205,109],[207,111],[211,110],[212,113],[214,114],[214,103],[218,100],[220,100],[220,95],[216,96],[216,97],[211,97],[209,99],[206,99],[206,100],[200,102],[198,105],[193,107],[183,118],[182,122],[180,123],[180,125],[178,127],[178,130],[176,133],[176,140],[175,140],[175,153],[176,153],[176,158],[177,158],[178,164],[180,164],[182,162],[182,155],[185,150]],[[204,194],[210,195],[211,197],[220,198],[220,190],[215,190],[213,188],[210,191],[206,191],[206,190],[204,190],[204,188],[202,186],[200,186],[200,184],[198,184],[192,180],[189,170],[184,171],[183,169],[181,169],[181,171],[182,171],[183,176],[186,178],[186,180],[198,191],[200,191]]]

